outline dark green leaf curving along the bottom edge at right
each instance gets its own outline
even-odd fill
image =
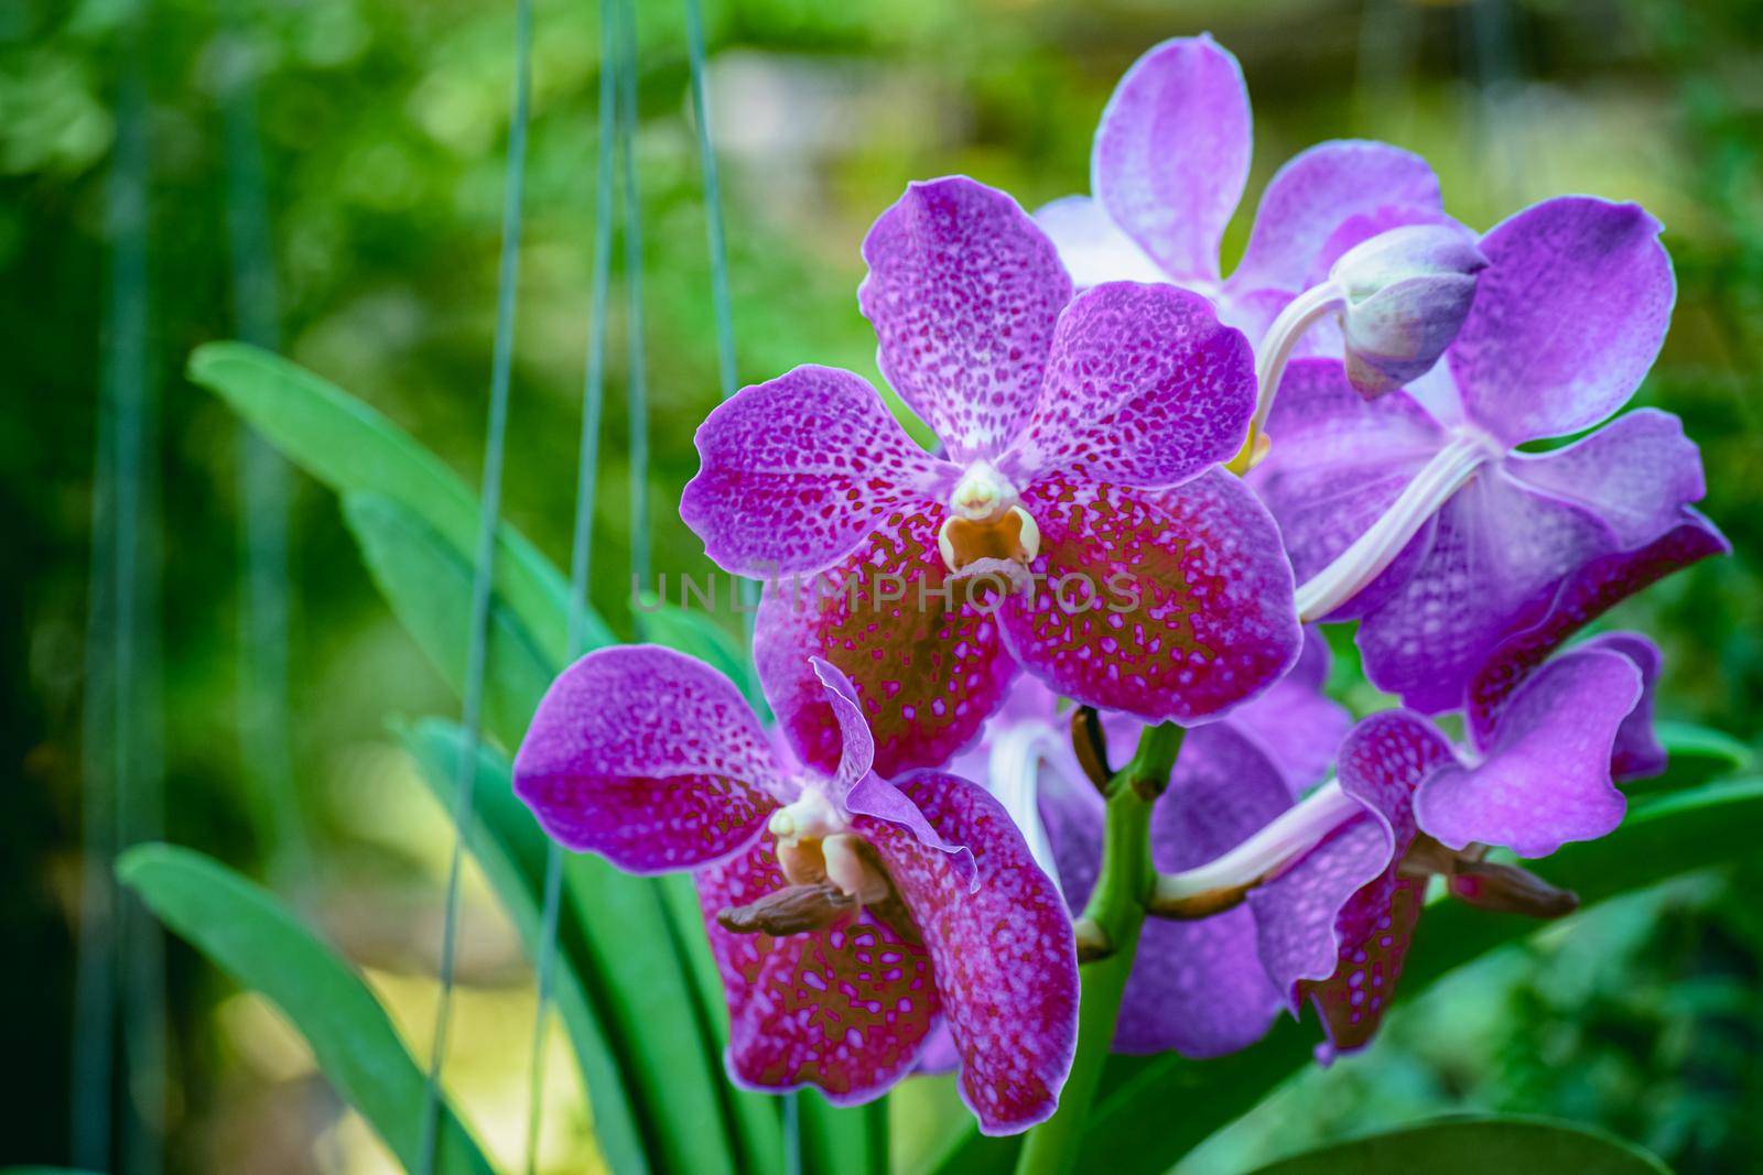
[[[1671,1175],[1664,1163],[1603,1131],[1520,1117],[1449,1117],[1368,1134],[1259,1168],[1253,1175]]]

